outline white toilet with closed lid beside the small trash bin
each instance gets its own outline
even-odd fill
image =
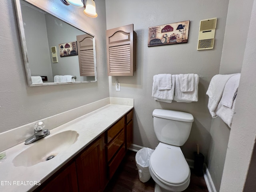
[[[154,131],[160,141],[149,160],[149,172],[155,181],[155,192],[180,192],[190,182],[190,168],[179,146],[188,140],[192,114],[155,109]]]

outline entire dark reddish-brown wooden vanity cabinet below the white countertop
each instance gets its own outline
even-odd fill
[[[102,192],[132,142],[133,109],[34,192]]]

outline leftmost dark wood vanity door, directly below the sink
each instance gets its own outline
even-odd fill
[[[58,174],[40,192],[78,192],[76,179],[76,164],[70,166]]]

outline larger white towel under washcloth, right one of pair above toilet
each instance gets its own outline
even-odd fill
[[[198,83],[199,76],[194,74],[194,91],[181,92],[179,75],[175,76],[174,100],[176,102],[197,102],[198,101]]]

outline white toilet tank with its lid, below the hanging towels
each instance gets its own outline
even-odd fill
[[[154,132],[160,142],[182,146],[188,140],[194,117],[190,113],[155,109]]]

